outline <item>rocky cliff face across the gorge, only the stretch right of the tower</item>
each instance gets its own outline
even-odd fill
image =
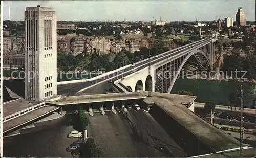
[[[71,52],[74,55],[82,53],[84,50],[87,53],[109,54],[110,52],[120,52],[122,49],[131,52],[138,51],[140,47],[148,46],[148,40],[141,39],[121,39],[115,40],[112,37],[97,37],[97,36],[59,36],[58,52]]]

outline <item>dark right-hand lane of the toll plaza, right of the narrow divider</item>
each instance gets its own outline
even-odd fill
[[[187,157],[179,144],[172,139],[160,124],[143,110],[128,109],[127,119],[133,124],[141,141],[158,151],[161,157]]]

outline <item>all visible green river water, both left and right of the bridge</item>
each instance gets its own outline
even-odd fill
[[[13,73],[14,77],[18,76],[18,71]],[[3,76],[9,77],[10,70],[3,70]],[[24,73],[20,73],[20,76],[24,77]],[[95,77],[96,74],[58,74],[57,81],[87,79]],[[243,85],[244,94],[244,106],[250,106],[252,104],[252,90],[256,91],[256,84],[245,82],[232,82],[232,81],[211,81],[211,80],[199,80],[199,79],[177,79],[172,89],[172,93],[177,94],[177,91],[185,90],[192,92],[197,96],[196,102],[213,101],[215,104],[224,105],[229,104],[229,94],[235,90],[239,90],[241,84]],[[255,97],[255,95],[254,95]]]

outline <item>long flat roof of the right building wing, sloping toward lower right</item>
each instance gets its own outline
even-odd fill
[[[147,94],[147,92],[142,93]],[[168,115],[182,124],[184,128],[193,133],[214,151],[239,147],[239,141],[201,119],[185,106],[182,106],[181,103],[185,100],[185,96],[155,92],[152,92],[151,95],[151,99],[156,105],[162,108]],[[190,97],[193,99],[193,96]]]

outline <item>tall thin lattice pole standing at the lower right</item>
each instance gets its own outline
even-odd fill
[[[242,147],[244,146],[244,103],[243,103],[243,85],[240,89],[240,157],[244,157]]]

